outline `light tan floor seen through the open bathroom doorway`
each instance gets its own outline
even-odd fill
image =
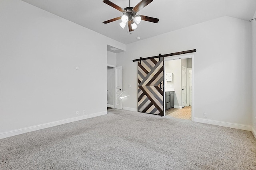
[[[165,115],[178,119],[191,120],[191,106],[186,106],[182,109],[170,108],[165,111]]]

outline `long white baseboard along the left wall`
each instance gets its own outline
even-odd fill
[[[48,127],[62,125],[65,123],[88,119],[91,117],[106,115],[106,114],[107,114],[107,111],[102,111],[102,112],[98,112],[98,113],[91,113],[91,114],[86,114],[86,115],[82,115],[82,116],[78,116],[78,117],[72,117],[72,118],[63,119],[63,120],[59,120],[59,121],[53,121],[53,122],[49,122],[49,123],[43,123],[40,125],[34,125],[34,126],[30,126],[30,127],[21,128],[21,129],[15,129],[12,131],[2,132],[2,133],[0,133],[0,139],[15,136],[15,135],[20,135],[22,133],[37,131],[37,130],[48,128]]]

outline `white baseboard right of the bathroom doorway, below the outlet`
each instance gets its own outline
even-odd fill
[[[194,117],[194,121],[200,122],[200,123],[207,123],[207,124],[211,124],[211,125],[230,127],[230,128],[234,128],[234,129],[241,129],[241,130],[245,130],[245,131],[252,131],[252,127],[250,125],[242,125],[242,124],[238,124],[238,123],[230,123],[230,122],[224,122],[224,121],[202,119],[202,118],[198,118],[198,117]]]

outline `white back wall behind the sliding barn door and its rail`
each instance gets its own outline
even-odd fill
[[[126,52],[117,54],[123,90],[130,95],[123,106],[137,108],[137,63],[132,59],[196,49],[194,117],[251,129],[251,29],[249,21],[222,17],[128,44]]]

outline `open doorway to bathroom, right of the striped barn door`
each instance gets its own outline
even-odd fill
[[[193,121],[193,57],[194,55],[182,55],[164,59],[166,116]]]

